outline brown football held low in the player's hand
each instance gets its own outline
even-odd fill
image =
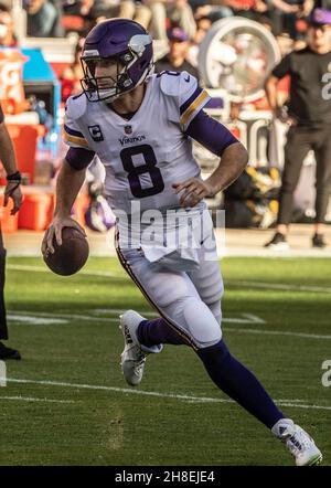
[[[62,245],[53,240],[54,253],[44,255],[44,262],[56,275],[70,276],[77,273],[88,258],[87,238],[74,227],[62,230]]]

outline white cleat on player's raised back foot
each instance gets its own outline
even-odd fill
[[[124,315],[119,316],[119,328],[125,339],[125,348],[120,354],[121,371],[127,383],[131,386],[137,386],[142,380],[147,354],[161,352],[163,346],[147,348],[138,341],[137,330],[139,323],[146,319],[137,311],[127,310]]]

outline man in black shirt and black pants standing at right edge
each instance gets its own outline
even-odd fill
[[[331,99],[323,97],[322,74],[331,66],[331,11],[314,9],[309,20],[308,46],[293,51],[274,68],[266,83],[271,109],[279,115],[278,79],[290,76],[288,131],[285,146],[285,167],[279,195],[277,229],[266,244],[287,248],[287,233],[292,212],[293,192],[299,181],[303,159],[314,151],[317,162],[316,223],[313,247],[324,247],[324,218],[331,191]]]

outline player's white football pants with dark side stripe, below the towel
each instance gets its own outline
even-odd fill
[[[221,340],[223,279],[216,248],[206,252],[202,245],[200,267],[194,272],[162,269],[150,263],[142,250],[121,250],[118,238],[116,250],[148,301],[189,346],[197,350]]]

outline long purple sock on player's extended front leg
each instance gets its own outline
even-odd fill
[[[200,349],[197,356],[213,382],[267,427],[285,417],[256,376],[231,356],[223,340]]]

